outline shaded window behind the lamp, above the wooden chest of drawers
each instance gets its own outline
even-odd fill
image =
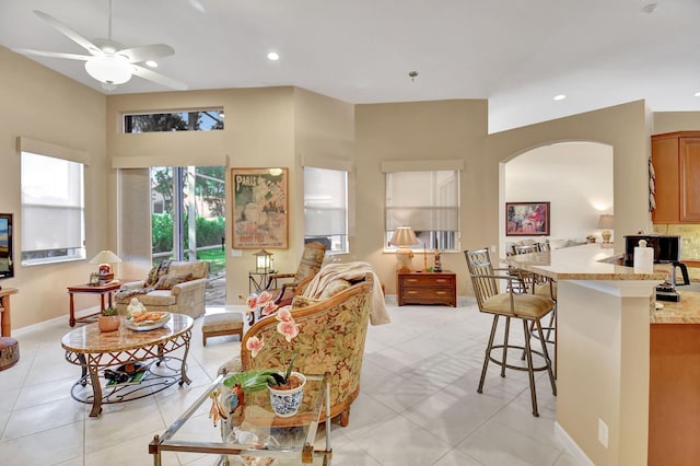
[[[459,172],[407,171],[386,173],[386,231],[411,226],[422,249],[459,249]]]

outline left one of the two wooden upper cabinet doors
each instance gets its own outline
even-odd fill
[[[656,172],[656,209],[652,211],[654,223],[677,223],[678,197],[678,138],[652,139],[652,163]]]

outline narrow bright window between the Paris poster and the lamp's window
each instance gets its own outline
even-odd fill
[[[332,253],[348,252],[348,172],[304,167],[304,242]]]

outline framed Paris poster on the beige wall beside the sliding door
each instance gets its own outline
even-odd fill
[[[233,248],[287,249],[288,170],[231,168]]]

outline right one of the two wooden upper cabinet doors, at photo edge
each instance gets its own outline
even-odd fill
[[[700,137],[680,138],[680,221],[700,222]]]

